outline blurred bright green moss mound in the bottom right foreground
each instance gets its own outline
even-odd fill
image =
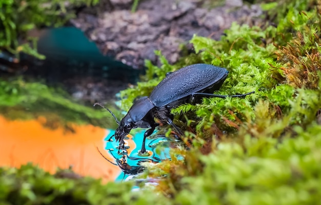
[[[296,139],[245,136],[247,151],[222,143],[197,155],[202,174],[184,177],[175,201],[180,204],[317,204],[321,196],[321,127],[295,127]],[[308,134],[309,133],[309,134]]]

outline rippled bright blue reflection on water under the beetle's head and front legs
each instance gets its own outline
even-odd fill
[[[120,160],[122,160],[123,154],[118,154],[118,142],[115,142],[115,139],[113,138],[113,141],[108,141],[110,137],[115,133],[115,130],[109,130],[109,134],[105,138],[106,147],[105,149],[109,151],[110,155],[113,155],[113,157],[116,157],[114,160],[115,163],[119,163]],[[132,149],[132,147],[128,147],[127,151],[127,157],[126,157],[126,163],[129,166],[137,167],[141,166],[139,163],[144,161],[151,161],[154,163],[160,162],[162,160],[169,158],[169,142],[170,140],[166,138],[164,135],[152,135],[149,138],[146,139],[146,150],[148,151],[148,156],[143,156],[139,154],[139,150],[142,148],[143,139],[144,139],[144,133],[145,131],[142,130],[141,132],[137,132],[135,136],[127,140],[125,140],[125,146],[129,146],[129,144],[134,144],[135,148]],[[131,141],[131,142],[130,142]],[[159,151],[158,151],[158,148]],[[157,153],[156,153],[157,152]],[[118,175],[118,177],[115,179],[115,181],[121,181],[123,179],[126,179],[129,175],[124,174],[122,172]]]

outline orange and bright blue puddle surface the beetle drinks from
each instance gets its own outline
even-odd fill
[[[82,176],[121,181],[141,171],[142,162],[158,163],[169,158],[170,140],[152,135],[146,140],[148,154],[141,150],[145,130],[128,135],[126,153],[118,153],[118,143],[108,141],[114,130],[93,125],[73,125],[73,131],[47,128],[45,118],[10,121],[0,116],[0,166],[20,167],[29,162],[55,173],[57,168]],[[158,145],[163,145],[157,150]]]

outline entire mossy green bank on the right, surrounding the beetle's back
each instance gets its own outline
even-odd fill
[[[146,175],[166,176],[157,189],[172,204],[319,203],[321,26],[313,4],[266,5],[270,15],[277,13],[277,27],[233,24],[219,41],[194,35],[196,55],[173,66],[165,61],[166,69],[147,62],[147,82],[123,92],[130,99],[148,95],[167,71],[199,62],[230,72],[216,94],[255,91],[244,99],[204,98],[172,110],[198,123],[191,127],[188,119],[183,126],[189,149],[171,149],[170,161],[145,165]]]

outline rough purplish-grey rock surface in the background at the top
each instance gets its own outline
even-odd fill
[[[179,45],[187,44],[193,34],[218,40],[233,21],[252,24],[262,14],[259,6],[249,7],[242,0],[227,0],[211,9],[203,7],[213,4],[209,0],[146,0],[139,1],[134,13],[132,4],[132,0],[110,0],[97,16],[86,9],[71,22],[102,52],[137,69],[144,67],[145,59],[158,62],[154,50],[174,63],[180,57]]]

